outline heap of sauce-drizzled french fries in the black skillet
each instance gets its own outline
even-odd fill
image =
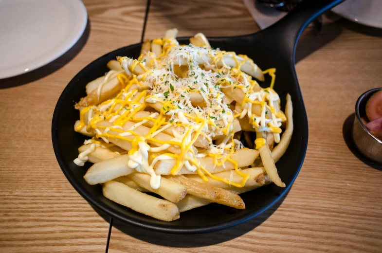
[[[214,56],[211,52],[215,51],[206,37],[197,34],[190,38],[190,47],[209,52],[193,56],[194,60],[199,57],[197,67],[214,75],[220,74],[220,70],[228,73],[236,69],[241,76],[237,78],[237,85],[244,87],[246,82],[253,85],[236,89],[228,84],[228,79],[223,80],[226,83],[219,83],[220,87],[215,85],[215,88],[224,96],[221,101],[226,109],[219,109],[228,116],[210,116],[212,120],[206,117],[200,121],[194,117],[194,125],[187,125],[175,106],[172,115],[167,109],[170,107],[166,108],[168,94],[176,94],[177,90],[172,85],[163,90],[156,86],[155,80],[149,79],[150,74],[161,68],[161,59],[174,48],[182,50],[176,35],[177,30],[171,29],[163,39],[145,41],[138,60],[127,57],[110,60],[110,71],[87,84],[87,96],[75,105],[80,110],[80,120],[74,130],[91,139],[78,148],[79,156],[74,162],[82,166],[85,162],[93,163],[84,179],[91,185],[102,184],[106,198],[160,220],[178,219],[181,212],[209,203],[245,209],[239,194],[272,181],[285,187],[275,162],[285,153],[293,132],[291,96],[287,95],[285,116],[279,99],[271,101],[272,104],[266,98],[247,99],[249,94],[262,90],[252,77],[263,81],[264,73],[269,73],[273,76],[273,87],[274,70],[263,72],[244,55],[226,52],[219,53],[221,57]],[[192,72],[187,57],[173,59],[171,64],[166,68],[173,66],[177,81]],[[188,107],[203,112],[214,108],[200,90],[191,90],[187,93]],[[270,91],[274,92],[267,90]],[[151,99],[153,94],[160,99]],[[171,104],[180,103],[184,96],[174,97],[176,95],[172,97],[174,102],[170,100]],[[252,104],[245,106],[248,103]],[[183,107],[182,112],[187,115],[185,102],[177,105]],[[276,113],[283,119],[276,118]],[[194,119],[187,117],[186,122]],[[256,117],[263,117],[268,125],[257,123]],[[219,125],[227,126],[226,130]],[[285,128],[281,138],[279,127]],[[248,148],[243,147],[240,140]],[[212,146],[215,149],[211,149]]]

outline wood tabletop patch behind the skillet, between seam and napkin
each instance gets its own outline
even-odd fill
[[[179,30],[178,36],[235,36],[258,31],[255,21],[241,0],[152,0],[146,38],[163,37],[170,28]]]

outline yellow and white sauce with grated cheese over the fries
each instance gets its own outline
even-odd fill
[[[179,45],[175,38],[156,39],[153,43],[163,46],[162,54],[149,52],[137,60],[127,57],[119,59],[126,74],[118,74],[117,78],[124,88],[113,99],[83,108],[76,130],[87,127],[89,132],[96,133],[96,138],[106,143],[109,143],[110,138],[113,142],[131,142],[128,166],[149,174],[153,189],[160,186],[161,175],[155,173],[154,167],[161,160],[176,160],[172,175],[177,175],[184,167],[191,172],[196,171],[204,181],[208,181],[207,174],[212,179],[243,187],[249,175],[240,172],[237,162],[231,159],[237,149],[243,148],[240,141],[234,139],[233,121],[236,117],[247,115],[256,131],[272,132],[275,142],[279,142],[281,122],[286,118],[279,109],[279,97],[272,89],[275,69],[265,71],[273,79],[270,88],[261,89],[251,76],[240,71],[243,64],[257,68],[246,55],[191,44]],[[236,67],[229,66],[229,63]],[[139,75],[133,74],[138,69]],[[139,91],[134,88],[137,85],[149,89]],[[240,113],[224,102],[222,88],[242,90],[244,100],[240,105]],[[98,87],[99,93],[101,89],[102,85]],[[259,105],[261,113],[257,115],[252,108]],[[135,116],[147,107],[153,107],[158,112],[147,117]],[[124,126],[128,122],[135,124],[126,129]],[[139,127],[148,122],[151,122],[150,130],[141,136]],[[170,127],[173,135],[171,140],[156,138]],[[212,141],[217,135],[225,136],[219,145]],[[206,140],[209,145],[196,149],[194,144],[200,140]],[[256,148],[263,145],[259,139],[256,141]],[[74,163],[82,166],[97,145],[91,144]],[[178,151],[174,152],[174,149]],[[158,152],[160,155],[154,155]],[[154,158],[151,164],[150,156]],[[208,168],[200,164],[199,159],[204,157],[212,157],[216,166],[232,163],[236,173],[242,176],[242,181],[235,183],[212,175]]]

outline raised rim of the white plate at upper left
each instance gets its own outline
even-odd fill
[[[62,44],[62,46],[60,47],[60,50],[48,52],[47,54],[43,54],[42,56],[37,57],[37,59],[31,61],[32,63],[35,63],[35,64],[33,64],[32,67],[28,68],[27,71],[22,69],[20,70],[13,69],[13,71],[12,69],[11,71],[1,71],[0,69],[0,80],[5,78],[10,78],[10,77],[15,77],[24,73],[34,71],[38,68],[41,68],[51,63],[52,61],[56,60],[57,58],[59,58],[60,56],[68,52],[74,46],[74,44],[81,38],[88,24],[88,12],[86,10],[84,3],[81,0],[61,0],[61,2],[63,2],[66,5],[71,5],[72,7],[74,7],[73,9],[76,10],[74,12],[75,16],[81,21],[81,25],[74,24],[74,29],[71,32],[70,36],[68,36],[68,37],[73,37],[72,40]]]

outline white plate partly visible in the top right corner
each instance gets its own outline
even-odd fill
[[[382,28],[382,0],[346,0],[332,11],[351,21]]]

